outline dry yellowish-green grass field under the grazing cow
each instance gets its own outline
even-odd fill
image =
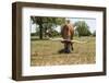
[[[85,44],[74,43],[71,54],[59,54],[63,44],[52,40],[31,42],[31,66],[87,64],[96,62],[95,37],[74,37]]]

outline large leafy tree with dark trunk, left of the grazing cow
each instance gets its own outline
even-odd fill
[[[65,22],[64,17],[43,17],[43,16],[31,16],[33,23],[39,25],[39,38],[43,39],[43,34],[47,32],[47,29],[52,29],[52,27],[57,27],[57,25],[61,25]]]

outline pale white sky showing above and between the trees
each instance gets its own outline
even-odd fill
[[[89,26],[89,31],[92,33],[94,33],[96,31],[96,19],[82,19],[82,17],[70,17],[66,19],[70,20],[72,24],[74,24],[77,21],[85,21],[87,23],[87,25]],[[32,23],[31,23],[32,24]],[[56,31],[60,32],[61,26],[57,26],[57,28],[55,28]],[[36,24],[32,24],[31,25],[31,33],[35,33],[36,32]]]

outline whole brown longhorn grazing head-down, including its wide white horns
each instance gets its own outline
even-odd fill
[[[60,50],[59,52],[66,52],[66,54],[71,52],[71,50],[73,50],[73,43],[78,43],[78,44],[87,43],[73,39],[74,26],[73,24],[70,23],[70,21],[66,21],[66,23],[62,26],[61,36],[62,38],[50,38],[50,40],[61,42],[64,44],[64,49]]]

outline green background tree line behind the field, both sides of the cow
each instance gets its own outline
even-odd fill
[[[47,36],[47,32],[51,36],[60,36],[60,33],[55,28],[62,26],[65,23],[65,17],[31,16],[31,21],[33,24],[38,25],[38,28],[36,28],[37,32],[32,33],[32,35],[39,36],[39,39],[43,39]],[[78,36],[96,36],[96,31],[90,33],[89,26],[85,21],[77,21],[74,23],[74,26],[76,27],[75,34]]]

